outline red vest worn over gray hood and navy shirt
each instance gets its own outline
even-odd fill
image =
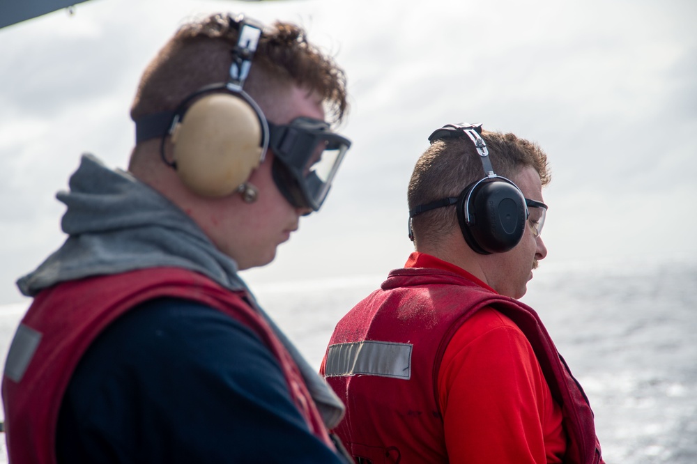
[[[153,268],[68,281],[37,295],[10,348],[2,382],[8,455],[13,464],[56,462],[56,424],[63,394],[95,337],[118,316],[157,297],[206,304],[256,333],[278,359],[291,397],[310,431],[334,449],[298,366],[244,291],[231,292],[179,268]],[[14,351],[14,353],[13,353]],[[17,361],[20,359],[20,361]]]

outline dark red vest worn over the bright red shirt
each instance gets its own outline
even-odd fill
[[[354,458],[447,463],[438,372],[445,348],[476,311],[491,307],[533,347],[568,435],[565,463],[602,463],[593,413],[533,309],[459,274],[393,270],[339,322],[321,371],[346,404],[335,433]],[[365,462],[365,461],[359,461]]]

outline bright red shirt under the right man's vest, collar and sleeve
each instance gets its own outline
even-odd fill
[[[413,253],[406,268],[457,272],[434,256]],[[448,343],[438,396],[450,463],[560,463],[566,449],[562,412],[523,332],[494,309],[467,320]]]

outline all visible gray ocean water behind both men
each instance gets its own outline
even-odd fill
[[[337,320],[383,277],[254,291],[319,368]],[[542,265],[523,301],[588,394],[608,464],[697,463],[697,259]],[[0,307],[1,353],[25,307]]]

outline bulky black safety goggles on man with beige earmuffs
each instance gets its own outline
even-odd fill
[[[296,208],[319,210],[351,141],[312,118],[296,118],[288,125],[269,122],[268,128],[278,190]]]

